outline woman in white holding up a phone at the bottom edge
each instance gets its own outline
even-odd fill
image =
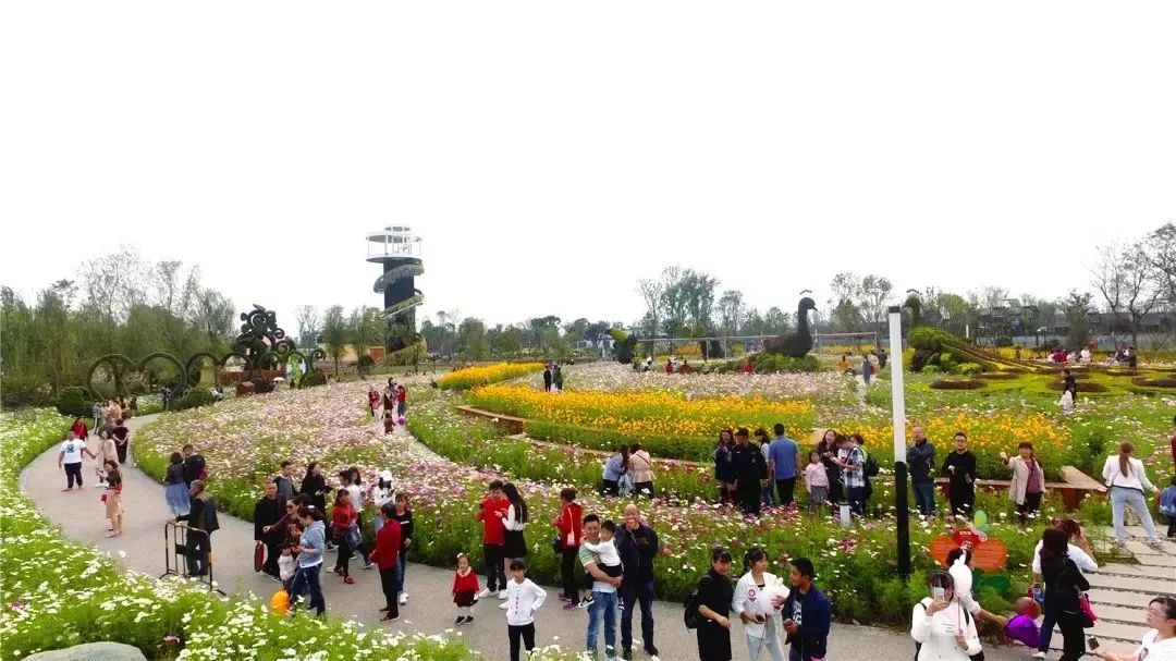
[[[976,620],[955,599],[955,582],[947,572],[931,574],[931,596],[915,605],[910,637],[917,661],[968,661],[980,654]]]

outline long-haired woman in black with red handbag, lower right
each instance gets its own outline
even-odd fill
[[[1082,569],[1069,556],[1069,535],[1045,528],[1041,536],[1041,575],[1045,581],[1045,617],[1062,632],[1062,661],[1078,661],[1087,652],[1083,625],[1085,615],[1078,593],[1090,589]]]

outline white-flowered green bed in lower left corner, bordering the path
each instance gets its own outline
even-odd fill
[[[68,425],[48,409],[0,415],[0,659],[103,640],[133,645],[148,659],[469,657],[463,646],[439,637],[392,635],[330,617],[280,619],[255,599],[226,601],[205,588],[125,573],[109,557],[66,541],[21,494],[18,478]]]

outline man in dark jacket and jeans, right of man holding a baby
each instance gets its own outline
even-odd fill
[[[641,522],[636,505],[624,507],[624,526],[616,534],[616,550],[624,566],[621,583],[621,656],[633,659],[633,606],[641,605],[641,637],[646,653],[657,655],[654,645],[654,559],[661,550],[657,533]]]

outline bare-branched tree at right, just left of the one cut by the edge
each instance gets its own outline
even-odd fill
[[[1091,285],[1102,294],[1111,314],[1131,325],[1131,343],[1140,345],[1140,322],[1164,298],[1161,273],[1142,241],[1098,251]]]

